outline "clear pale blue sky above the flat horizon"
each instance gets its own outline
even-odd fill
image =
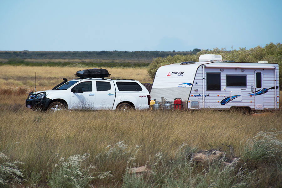
[[[0,50],[229,50],[270,42],[282,42],[282,0],[0,0]]]

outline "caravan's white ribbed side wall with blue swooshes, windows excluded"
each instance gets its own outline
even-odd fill
[[[238,68],[209,68],[208,66],[204,69],[202,66],[198,68],[195,76],[195,81],[191,89],[189,97],[188,108],[195,109],[191,103],[199,102],[199,108],[214,108],[214,109],[229,109],[230,107],[250,107],[253,110],[274,110],[279,109],[279,74],[277,64],[263,64],[264,66],[275,66],[276,67],[276,96],[274,89],[274,69],[263,69],[259,68],[262,64],[258,63],[244,63],[243,65],[258,66],[258,68],[245,68],[242,70],[240,65],[242,63],[210,63],[209,65],[235,65]],[[241,71],[242,70],[242,71]],[[259,70],[263,74],[261,90],[256,90],[256,96],[254,95],[255,89],[255,71]],[[220,90],[207,90],[206,75],[207,73],[220,74]],[[238,75],[246,76],[247,86],[246,87],[230,87],[227,86],[227,75]],[[204,78],[204,79],[203,79]],[[203,92],[204,84],[204,92]],[[259,92],[261,91],[261,92]],[[258,104],[258,100],[255,98],[263,95],[263,105]],[[230,99],[232,97],[232,100]],[[277,102],[275,102],[275,97]],[[204,102],[203,102],[204,100]],[[256,103],[257,102],[257,103]],[[259,108],[259,107],[262,108]]]

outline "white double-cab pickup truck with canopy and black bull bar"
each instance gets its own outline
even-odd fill
[[[53,90],[29,93],[26,107],[61,109],[144,110],[149,108],[149,91],[131,79],[84,78],[62,82]]]

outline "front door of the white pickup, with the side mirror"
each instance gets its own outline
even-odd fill
[[[94,109],[95,90],[92,89],[92,81],[83,81],[70,89],[70,108],[71,109]],[[83,91],[83,93],[78,93]]]

